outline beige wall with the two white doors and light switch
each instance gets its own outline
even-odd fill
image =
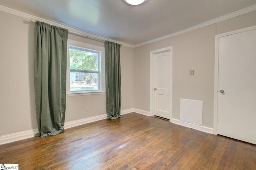
[[[172,118],[180,119],[180,98],[202,100],[203,126],[213,128],[215,35],[254,26],[255,18],[256,11],[135,48],[134,108],[150,111],[150,51],[172,46]]]

